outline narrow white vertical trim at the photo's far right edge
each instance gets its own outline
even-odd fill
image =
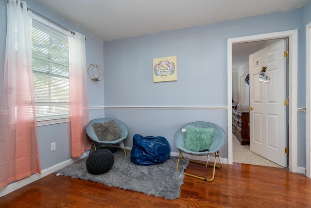
[[[307,115],[306,115],[306,175],[307,177],[311,177],[311,22],[306,25],[306,107],[307,107]]]

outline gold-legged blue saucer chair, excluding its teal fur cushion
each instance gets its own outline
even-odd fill
[[[194,152],[194,151],[190,151],[186,148],[183,147],[183,143],[184,143],[184,140],[185,140],[185,136],[184,136],[184,129],[187,127],[187,126],[193,126],[193,127],[199,127],[199,128],[214,128],[215,129],[215,134],[214,134],[214,137],[213,137],[213,143],[210,147],[210,150],[208,151],[202,151],[202,152]],[[180,140],[181,141],[177,141],[177,140]],[[198,176],[198,175],[194,175],[194,174],[190,174],[190,173],[186,173],[186,172],[182,172],[184,175],[188,175],[188,176],[191,176],[191,177],[195,177],[195,178],[198,178],[198,179],[202,179],[204,181],[212,181],[214,180],[214,177],[215,177],[215,169],[216,168],[222,168],[223,165],[222,165],[222,162],[221,162],[221,158],[220,158],[220,154],[219,154],[219,150],[224,146],[225,144],[225,132],[224,130],[218,126],[217,124],[214,124],[214,123],[210,123],[210,122],[206,122],[206,121],[196,121],[196,122],[191,122],[191,123],[188,123],[184,126],[182,126],[174,135],[174,143],[175,143],[175,146],[176,148],[179,150],[179,156],[178,156],[178,161],[177,161],[177,165],[176,165],[176,170],[181,172],[180,170],[178,170],[178,166],[179,166],[179,161],[180,161],[180,156],[183,157],[184,160],[188,160],[186,159],[186,157],[184,156],[183,152],[185,153],[188,153],[190,155],[197,155],[197,156],[205,156],[207,155],[207,162],[204,163],[204,162],[200,162],[200,161],[196,161],[196,160],[189,160],[190,162],[194,162],[194,163],[198,163],[198,164],[202,164],[202,165],[205,165],[206,167],[207,166],[211,166],[213,167],[213,172],[212,172],[212,176],[211,178],[207,179],[205,177],[201,177],[201,176]],[[214,158],[214,163],[213,164],[208,164],[208,159],[209,159],[209,155],[211,154],[214,154],[215,155],[215,158]],[[218,160],[219,160],[219,166],[216,166],[217,164],[217,157],[218,157]]]

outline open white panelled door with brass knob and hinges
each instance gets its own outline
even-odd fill
[[[287,167],[285,51],[282,39],[249,56],[250,150],[283,167]]]

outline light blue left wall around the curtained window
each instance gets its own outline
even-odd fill
[[[104,65],[103,41],[94,38],[69,21],[55,15],[35,0],[26,0],[27,6],[39,14],[86,36],[86,66],[91,63]],[[6,0],[0,0],[0,95],[3,84],[3,68],[6,38]],[[104,80],[94,82],[88,79],[89,106],[104,105]],[[0,98],[1,99],[1,98]],[[90,110],[90,119],[104,117],[104,109]],[[56,151],[51,151],[51,143],[56,142]],[[60,162],[68,160],[70,156],[70,124],[54,124],[38,127],[38,146],[41,169],[50,168]]]

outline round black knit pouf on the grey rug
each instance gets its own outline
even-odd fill
[[[86,159],[86,169],[91,174],[103,174],[110,170],[115,158],[113,153],[107,149],[98,149],[88,155]]]

